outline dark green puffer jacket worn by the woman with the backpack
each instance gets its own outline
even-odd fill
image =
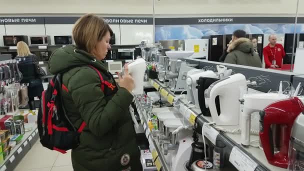
[[[78,65],[78,66],[77,66]],[[54,51],[49,59],[52,74],[62,72],[62,83],[68,91],[61,91],[68,117],[75,127],[84,120],[80,145],[72,149],[75,171],[141,170],[140,152],[128,111],[133,96],[123,87],[100,88],[97,68],[104,80],[116,85],[107,67],[94,60],[89,53],[68,45]],[[117,85],[116,85],[117,86]]]

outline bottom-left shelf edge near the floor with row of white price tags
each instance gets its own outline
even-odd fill
[[[38,129],[35,125],[31,131],[25,132],[21,142],[11,149],[10,154],[5,158],[4,162],[0,164],[0,171],[14,170],[38,138]]]

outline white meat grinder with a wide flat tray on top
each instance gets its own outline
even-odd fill
[[[166,79],[170,80],[170,90],[175,94],[180,93],[186,87],[186,74],[193,67],[188,67],[186,62],[178,60],[180,58],[192,55],[193,51],[166,51],[165,54],[170,59],[169,72],[166,73]]]

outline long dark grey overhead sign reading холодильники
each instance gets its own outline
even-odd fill
[[[304,22],[304,17],[298,18]],[[294,23],[294,17],[185,17],[155,18],[155,25],[188,24],[231,24],[231,23]]]

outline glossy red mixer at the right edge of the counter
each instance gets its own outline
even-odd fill
[[[268,162],[287,168],[291,128],[296,117],[304,110],[304,96],[291,97],[269,104],[259,112],[259,137]],[[271,125],[277,125],[272,132]],[[273,133],[278,135],[278,151],[274,151]]]

